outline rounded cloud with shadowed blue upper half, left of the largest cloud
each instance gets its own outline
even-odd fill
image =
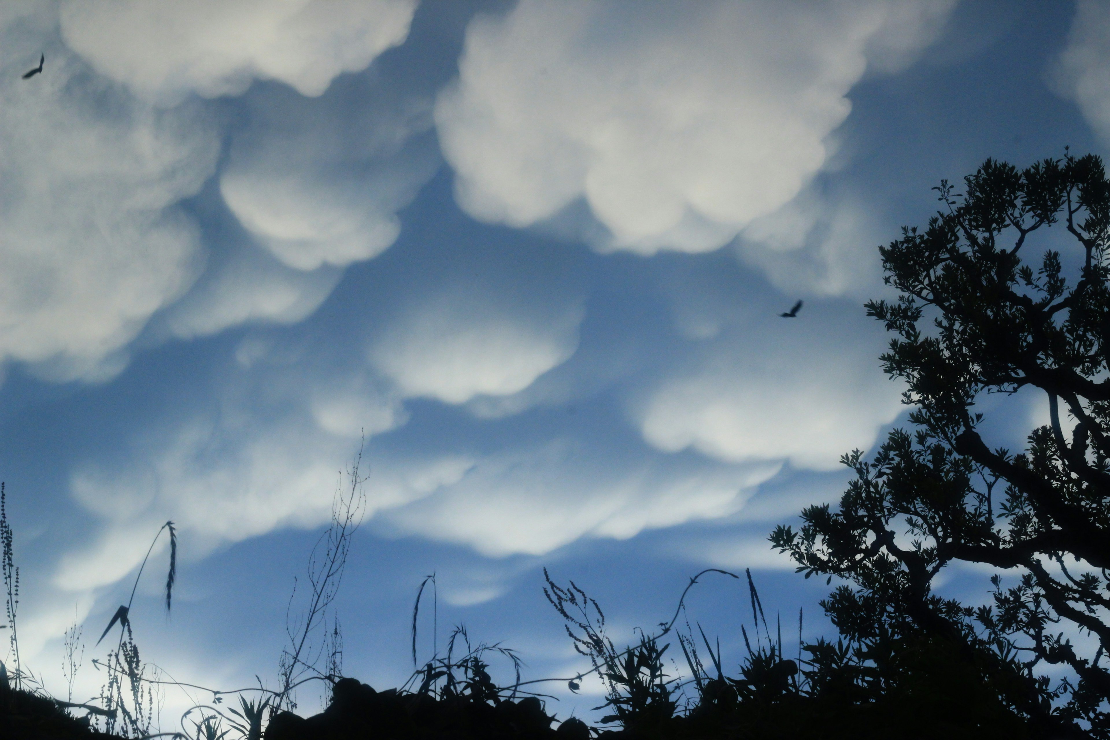
[[[320,99],[270,89],[245,105],[220,192],[259,244],[296,270],[342,267],[393,244],[396,211],[440,164],[431,101],[384,83]]]

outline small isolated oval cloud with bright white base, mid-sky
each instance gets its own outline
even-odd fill
[[[578,305],[515,305],[445,291],[402,311],[372,343],[373,365],[405,396],[451,404],[517,393],[577,349]]]

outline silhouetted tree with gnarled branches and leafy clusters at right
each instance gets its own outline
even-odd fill
[[[926,646],[1037,733],[1110,738],[1110,182],[1098,158],[1066,152],[1022,171],[988,160],[962,193],[934,190],[928,226],[879,249],[900,295],[867,304],[896,335],[881,362],[906,382],[916,428],[874,459],[845,456],[856,478],[839,508],[809,507],[800,531],[770,539],[806,577],[855,586],[823,602],[849,641],[888,659]],[[1026,264],[1038,237],[1053,249]],[[1022,453],[992,448],[977,401],[1027,386],[1050,424]],[[931,591],[957,561],[1012,577],[973,609]],[[1046,665],[1071,677],[1053,687]]]

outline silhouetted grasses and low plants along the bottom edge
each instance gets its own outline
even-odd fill
[[[290,628],[291,647],[283,652],[278,688],[256,687],[221,690],[160,678],[151,663],[140,658],[133,630],[133,599],[139,580],[163,533],[170,538],[165,580],[165,608],[172,606],[176,581],[178,535],[173,523],[158,530],[140,564],[128,604],[117,609],[102,640],[114,627],[120,636],[105,660],[93,660],[105,673],[100,696],[87,702],[53,699],[41,681],[16,662],[9,672],[0,662],[0,729],[49,727],[50,737],[97,737],[94,730],[125,738],[159,736],[190,740],[310,740],[312,738],[546,738],[588,740],[628,739],[749,739],[824,738],[1007,738],[1030,737],[1020,718],[1009,713],[990,696],[966,661],[928,640],[882,638],[870,642],[836,643],[824,638],[803,641],[804,612],[798,611],[797,658],[786,657],[781,620],[776,616],[771,633],[765,605],[750,570],[745,571],[750,625],[740,626],[746,655],[731,670],[725,663],[720,640],[710,638],[686,608],[689,590],[704,576],[716,574],[739,579],[737,574],[707,569],[690,578],[669,621],[655,632],[636,630],[636,640],[620,645],[607,631],[602,605],[573,580],[556,584],[544,569],[543,591],[565,621],[575,650],[591,668],[573,677],[522,680],[519,656],[501,643],[472,643],[465,626],[456,626],[444,653],[438,651],[437,594],[434,574],[416,589],[412,614],[414,670],[396,689],[374,691],[343,677],[334,652],[339,622],[325,611],[334,600],[357,527],[361,506],[359,460],[349,470],[351,485],[336,491],[332,525],[310,558],[311,594],[303,621]],[[12,655],[18,656],[16,618],[18,574],[12,529],[7,519],[6,491],[0,485],[0,541],[8,595],[8,625]],[[426,587],[432,586],[433,650],[417,662],[417,625]],[[295,595],[295,591],[294,591]],[[294,622],[287,621],[287,625]],[[331,624],[332,631],[324,629]],[[683,629],[679,628],[682,625]],[[750,631],[749,628],[750,627]],[[68,632],[69,666],[77,670],[72,651],[79,640],[78,626]],[[325,639],[312,647],[313,636]],[[329,642],[329,639],[331,642]],[[99,640],[98,640],[99,641]],[[679,672],[672,657],[678,642],[686,671]],[[327,646],[331,646],[327,648]],[[332,651],[324,655],[325,648]],[[806,656],[804,658],[804,656]],[[498,683],[491,662],[503,663],[512,680]],[[324,668],[317,668],[323,662]],[[605,686],[598,724],[581,719],[557,723],[535,691],[545,682],[565,682],[572,692],[596,673]],[[72,677],[69,676],[71,679]],[[304,683],[320,681],[329,690],[327,709],[312,718],[293,710],[293,692]],[[14,683],[14,686],[12,686]],[[154,732],[154,690],[162,687],[199,689],[211,701],[191,707],[180,719],[180,730]],[[234,696],[236,700],[224,703]],[[70,698],[71,695],[70,695]],[[83,714],[80,718],[73,714]],[[7,723],[7,724],[4,724]],[[0,733],[2,734],[2,733]],[[6,736],[16,737],[16,736]],[[27,736],[39,737],[39,736]]]

